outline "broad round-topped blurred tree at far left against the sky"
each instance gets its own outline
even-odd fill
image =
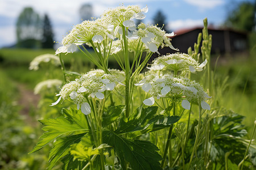
[[[38,48],[41,39],[41,20],[31,7],[20,13],[16,22],[17,46],[22,48]]]

